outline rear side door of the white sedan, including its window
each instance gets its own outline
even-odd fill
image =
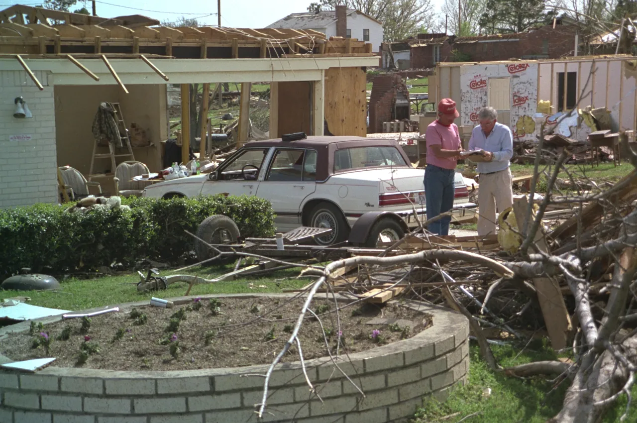
[[[278,231],[301,226],[301,203],[316,190],[317,153],[314,150],[278,148],[257,196],[268,199],[276,214]]]

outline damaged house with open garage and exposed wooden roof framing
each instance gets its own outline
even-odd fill
[[[0,13],[0,207],[58,203],[60,166],[77,169],[105,194],[117,192],[113,178],[123,161],[161,170],[169,83],[181,87],[182,99],[191,83],[236,82],[241,92],[250,92],[252,82],[270,83],[274,138],[322,135],[326,124],[334,135],[366,134],[364,69],[378,64],[370,44],[309,30],[156,24],[22,5]],[[240,142],[249,128],[246,97]],[[143,131],[145,142],[114,151],[108,143],[96,145],[93,123],[101,103],[117,104],[125,129],[131,136]],[[183,103],[185,164],[191,134]]]

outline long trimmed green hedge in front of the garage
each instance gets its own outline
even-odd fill
[[[91,271],[141,259],[175,263],[192,257],[197,226],[226,215],[242,236],[274,234],[271,204],[257,197],[199,196],[191,199],[122,199],[131,207],[64,213],[68,206],[0,210],[0,282],[20,268],[54,275]]]

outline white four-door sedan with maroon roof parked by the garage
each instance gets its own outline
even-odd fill
[[[375,213],[372,238],[398,240],[425,220],[424,169],[415,169],[395,140],[354,136],[310,136],[296,141],[246,143],[208,175],[150,185],[143,196],[195,197],[228,193],[272,203],[277,231],[329,227],[319,245],[348,240],[354,223]],[[475,213],[460,173],[455,174],[454,215]],[[378,234],[376,234],[378,233]]]

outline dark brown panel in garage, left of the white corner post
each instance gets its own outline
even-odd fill
[[[311,83],[279,82],[278,83],[278,134],[311,131]]]

